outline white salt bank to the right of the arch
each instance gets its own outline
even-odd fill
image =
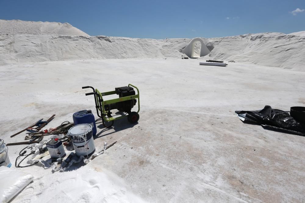
[[[210,54],[203,58],[305,71],[305,37],[284,33],[257,33],[203,41],[214,46]]]

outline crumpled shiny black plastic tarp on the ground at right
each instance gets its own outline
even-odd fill
[[[256,123],[267,129],[305,136],[305,124],[291,117],[289,111],[265,106],[262,110],[235,111],[235,113],[243,122]]]

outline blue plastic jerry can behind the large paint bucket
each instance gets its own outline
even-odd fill
[[[90,124],[92,126],[93,136],[96,135],[95,119],[94,119],[94,115],[92,114],[91,110],[82,110],[82,111],[75,112],[73,114],[73,122],[74,122],[74,125],[84,124],[84,123]]]

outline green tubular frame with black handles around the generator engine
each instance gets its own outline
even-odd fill
[[[140,111],[140,92],[139,92],[139,89],[138,89],[138,87],[136,87],[132,84],[128,84],[128,87],[129,86],[134,87],[135,89],[137,89],[137,94],[136,95],[124,96],[124,97],[120,97],[120,98],[112,99],[112,100],[103,100],[103,96],[116,94],[116,91],[102,92],[101,93],[98,89],[94,89],[91,86],[82,87],[82,89],[91,88],[93,90],[93,92],[86,93],[85,95],[86,96],[94,95],[96,113],[97,113],[98,117],[102,118],[103,125],[106,128],[110,128],[113,125],[113,122],[115,120],[127,117],[128,115],[121,115],[121,116],[118,116],[118,117],[112,117],[110,110],[105,110],[105,105],[112,104],[112,103],[117,103],[117,102],[122,102],[122,101],[127,101],[127,100],[138,99],[138,111],[136,113],[137,114],[139,113],[139,111]],[[111,124],[106,125],[105,121],[111,122]]]

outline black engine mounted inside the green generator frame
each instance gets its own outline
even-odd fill
[[[119,98],[135,95],[135,90],[132,87],[127,87],[127,86],[116,87],[115,92],[117,95],[119,95]],[[135,106],[136,103],[137,103],[137,100],[132,99],[132,100],[121,101],[121,102],[112,103],[112,104],[106,104],[105,110],[110,111],[113,109],[117,109],[119,111],[131,113],[131,109]]]

